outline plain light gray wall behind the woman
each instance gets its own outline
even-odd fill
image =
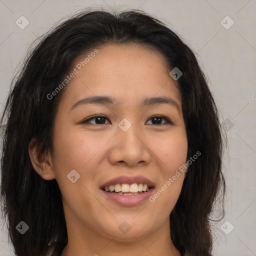
[[[223,162],[226,215],[214,225],[213,254],[256,255],[256,0],[0,0],[0,112],[30,43],[87,6],[144,10],[165,22],[197,54],[228,137]],[[15,24],[21,15],[29,21],[24,29]],[[234,21],[228,29],[227,15]],[[1,227],[0,240],[0,255],[14,255],[6,226]]]

